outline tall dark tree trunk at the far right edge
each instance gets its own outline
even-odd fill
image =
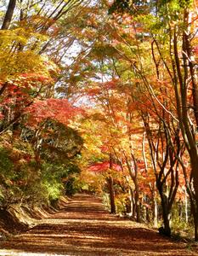
[[[184,137],[185,146],[190,154],[190,164],[191,164],[191,173],[190,178],[187,183],[187,192],[190,195],[190,204],[193,209],[193,217],[195,224],[195,241],[198,241],[198,150],[195,140],[195,130],[198,125],[198,88],[197,88],[197,79],[195,79],[195,63],[191,59],[191,45],[190,45],[190,14],[188,9],[184,9],[184,32],[183,32],[183,55],[182,55],[182,65],[180,63],[180,56],[178,54],[178,37],[176,29],[174,30],[173,37],[173,52],[174,59],[176,64],[177,73],[174,74],[175,77],[175,95],[177,100],[177,111],[178,119],[181,126],[182,135]],[[183,69],[182,69],[183,68]],[[189,118],[189,104],[188,102],[188,81],[191,81],[192,84],[192,96],[193,96],[193,106],[195,114],[195,125],[196,129],[192,127]],[[178,90],[177,81],[180,87]],[[185,177],[187,180],[187,178]],[[188,186],[188,183],[191,183],[193,180],[194,189],[191,189]]]

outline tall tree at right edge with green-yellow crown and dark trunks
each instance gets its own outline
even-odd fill
[[[156,11],[151,11],[153,9]],[[193,44],[196,42],[196,37],[193,37],[193,39],[190,38],[192,35],[195,36],[196,33],[196,3],[178,3],[177,1],[171,1],[170,3],[148,2],[139,5],[139,2],[132,4],[128,1],[115,1],[110,7],[110,13],[115,11],[122,13],[122,18],[118,15],[118,19],[122,19],[124,26],[127,24],[127,30],[130,31],[131,29],[133,32],[132,36],[130,34],[129,37],[127,37],[127,32],[124,33],[124,30],[119,31],[119,41],[122,39],[122,44],[125,46],[122,46],[122,51],[119,46],[116,47],[116,49],[121,52],[122,56],[126,55],[126,49],[128,49],[130,44],[129,38],[133,40],[133,50],[131,53],[136,57],[136,60],[134,61],[133,55],[128,54],[130,51],[127,51],[125,59],[131,65],[133,73],[136,74],[136,77],[139,78],[141,84],[144,84],[148,91],[150,95],[150,106],[156,101],[155,105],[158,105],[156,108],[163,108],[164,112],[167,112],[167,114],[174,119],[174,122],[178,122],[178,128],[181,129],[180,134],[182,133],[185,147],[190,154],[193,183],[187,178],[190,176],[187,174],[184,161],[179,154],[176,154],[176,158],[178,159],[176,162],[178,162],[178,165],[182,166],[184,171],[191,207],[194,209],[195,240],[197,240],[197,207],[195,206],[197,204],[197,181],[195,173],[197,172],[195,171],[195,167],[193,167],[196,159],[196,140],[195,129],[191,129],[191,125],[193,123],[195,125],[196,121],[195,112],[193,117],[193,111],[187,110],[187,106],[196,106],[196,79],[195,65],[193,64],[195,52],[192,50]],[[125,13],[125,15],[123,15],[123,13]],[[143,38],[144,41],[142,40]],[[180,47],[180,45],[182,45],[182,47]],[[153,63],[146,61],[144,56],[148,55],[148,52],[147,54],[145,52],[143,54],[142,46],[144,48],[146,46],[149,47],[149,54],[151,55]],[[181,54],[181,52],[183,52],[183,54]],[[183,65],[180,65],[182,61]],[[150,67],[153,64],[155,65],[153,70],[156,70],[156,73],[153,73],[151,78]],[[172,96],[174,95],[173,101],[175,101],[172,109],[168,109],[167,101],[164,102],[163,98],[161,99],[161,96],[159,96],[156,90],[156,84],[154,85],[155,81],[153,78],[155,77],[156,83],[165,83],[166,86],[170,86],[172,89]],[[190,85],[188,83],[190,83]],[[180,84],[180,88],[178,84]],[[192,88],[192,90],[190,88]],[[190,93],[190,91],[192,91],[192,93]],[[161,92],[163,93],[163,90],[161,90]],[[168,94],[166,98],[167,96]],[[180,108],[180,106],[182,106],[182,108]],[[195,109],[196,107],[194,110]],[[164,119],[161,114],[159,118]],[[165,128],[167,129],[167,127]],[[181,139],[180,142],[182,142]],[[175,144],[171,147],[173,150],[177,151]]]

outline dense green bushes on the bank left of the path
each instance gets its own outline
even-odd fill
[[[52,133],[53,128],[55,133]],[[0,207],[9,207],[19,201],[31,204],[57,201],[65,193],[65,179],[80,173],[74,155],[79,152],[77,143],[82,143],[82,138],[64,125],[50,125],[50,129],[52,137],[49,134],[44,137],[43,143],[47,146],[42,146],[39,159],[31,143],[34,136],[32,133],[30,137],[30,131],[29,142],[13,137],[11,132],[0,138],[4,143],[0,148]],[[43,130],[43,134],[46,132],[47,129]],[[23,138],[27,139],[25,133]],[[54,145],[50,148],[52,142]],[[73,193],[73,182],[72,186],[68,191]]]

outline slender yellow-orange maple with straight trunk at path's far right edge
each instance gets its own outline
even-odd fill
[[[132,133],[135,130],[132,128],[133,115],[128,113],[128,99],[127,101],[125,101],[124,98],[121,99],[116,92],[117,83],[116,80],[103,84],[95,83],[96,87],[94,89],[93,86],[90,89],[88,88],[88,96],[94,98],[103,109],[103,114],[98,116],[96,114],[95,116],[93,115],[93,117],[94,119],[105,122],[106,130],[109,130],[104,139],[105,147],[109,148],[109,154],[112,154],[114,158],[116,157],[116,161],[119,162],[122,169],[126,169],[127,167],[128,177],[129,179],[131,178],[135,184],[135,190],[134,193],[132,193],[132,196],[134,196],[133,212],[137,214],[137,219],[140,221],[138,165],[133,153],[134,148],[132,148]],[[99,87],[102,87],[103,90],[99,90]],[[124,112],[125,110],[127,113]],[[124,160],[126,164],[124,167],[122,160]],[[133,191],[133,189],[131,189],[131,191]]]

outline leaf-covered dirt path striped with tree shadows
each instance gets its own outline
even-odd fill
[[[28,232],[0,242],[3,255],[198,255],[142,224],[111,216],[99,198],[76,195]]]

